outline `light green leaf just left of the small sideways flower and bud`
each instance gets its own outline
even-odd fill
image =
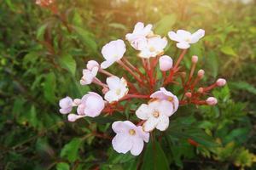
[[[70,73],[75,76],[77,63],[73,56],[70,54],[62,54],[60,58],[61,67],[70,71]]]

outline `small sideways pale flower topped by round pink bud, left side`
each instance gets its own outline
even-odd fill
[[[83,77],[80,80],[81,85],[88,85],[93,82],[99,71],[100,65],[95,60],[88,61],[86,69],[83,70]]]

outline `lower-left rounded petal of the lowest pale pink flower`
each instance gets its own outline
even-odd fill
[[[132,140],[129,134],[118,133],[112,139],[113,150],[118,153],[127,153],[131,150]]]

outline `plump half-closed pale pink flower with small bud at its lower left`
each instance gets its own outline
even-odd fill
[[[69,122],[75,122],[77,119],[84,116],[96,117],[99,116],[105,107],[105,102],[102,96],[94,92],[85,94],[81,99],[76,114],[69,114],[67,116]]]

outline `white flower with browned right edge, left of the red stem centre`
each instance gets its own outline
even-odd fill
[[[108,77],[107,78],[108,84],[108,92],[105,94],[105,99],[112,103],[113,101],[118,101],[119,99],[123,98],[126,94],[128,94],[127,82],[125,78],[119,79],[119,77]]]

